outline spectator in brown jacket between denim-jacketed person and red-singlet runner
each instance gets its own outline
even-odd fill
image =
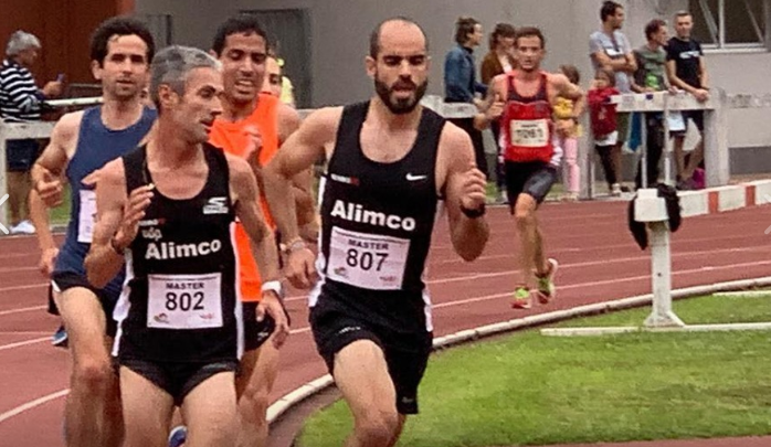
[[[516,68],[517,61],[514,58],[514,35],[515,29],[508,23],[498,23],[489,38],[489,52],[482,61],[479,72],[482,74],[482,83],[489,85],[490,81],[499,74]],[[495,139],[497,151],[497,175],[496,183],[498,184],[498,202],[506,203],[506,181],[504,175],[504,158],[500,155],[500,126],[498,121],[490,123],[490,130]]]

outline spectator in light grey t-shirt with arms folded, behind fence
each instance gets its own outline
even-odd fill
[[[610,68],[615,73],[615,88],[620,93],[631,93],[630,75],[637,67],[632,54],[632,45],[626,35],[621,32],[624,25],[624,8],[614,2],[605,1],[600,9],[600,19],[602,19],[602,30],[595,31],[589,38],[589,54],[594,66],[594,71],[600,68]],[[621,148],[626,141],[630,129],[630,114],[617,114],[616,130],[619,137],[611,158],[613,161],[614,174],[612,177],[620,178],[621,174]],[[615,183],[611,188],[611,193],[620,195],[622,189],[620,183]]]

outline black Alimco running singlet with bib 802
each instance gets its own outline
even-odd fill
[[[241,354],[228,160],[208,143],[203,153],[209,166],[203,189],[188,200],[154,190],[126,252],[126,285],[115,311],[122,359],[211,362]],[[147,147],[123,161],[127,193],[152,182]]]

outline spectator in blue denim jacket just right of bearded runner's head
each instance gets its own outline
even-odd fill
[[[474,49],[479,46],[484,36],[482,24],[476,19],[461,17],[455,22],[457,45],[447,52],[444,60],[444,100],[446,103],[468,103],[476,105],[477,108],[482,107],[484,102],[474,95],[479,93],[484,96],[487,93],[487,86],[476,81]],[[476,167],[488,174],[482,132],[474,127],[474,117],[451,118],[448,121],[468,134],[474,145]]]

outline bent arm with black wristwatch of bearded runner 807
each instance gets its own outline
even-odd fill
[[[466,132],[445,125],[441,140],[440,167],[445,172],[445,206],[450,237],[464,260],[476,259],[485,248],[489,228],[484,216],[468,217],[463,209],[479,210],[485,204],[485,175],[476,169],[474,149]]]

